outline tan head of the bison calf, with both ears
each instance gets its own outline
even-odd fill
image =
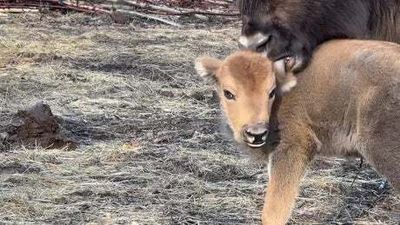
[[[223,61],[200,57],[195,63],[197,73],[215,84],[235,140],[251,148],[267,144],[274,102],[296,85],[296,78],[286,72],[293,65],[290,59],[272,63],[250,51]]]

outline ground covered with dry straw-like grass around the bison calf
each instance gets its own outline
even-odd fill
[[[44,101],[80,145],[2,143],[0,224],[259,224],[266,167],[222,135],[193,69],[199,55],[235,50],[239,31],[1,14],[0,127]],[[400,198],[358,167],[316,160],[290,223],[399,224]]]

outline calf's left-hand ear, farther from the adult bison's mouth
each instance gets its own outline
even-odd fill
[[[222,61],[209,56],[202,56],[196,59],[194,68],[197,74],[208,81],[216,81],[215,75],[221,67]]]

